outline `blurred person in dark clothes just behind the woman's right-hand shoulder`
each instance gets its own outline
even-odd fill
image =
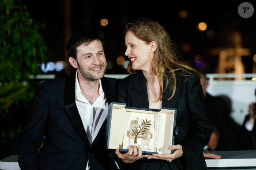
[[[206,75],[202,70],[199,70],[199,72],[205,105],[213,128],[210,141],[207,145],[208,150],[237,150],[240,126],[230,116],[231,101],[226,96],[212,96],[208,94],[206,91],[208,87]]]

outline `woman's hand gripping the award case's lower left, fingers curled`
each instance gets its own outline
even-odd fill
[[[124,163],[133,163],[138,159],[147,157],[147,155],[142,155],[142,150],[140,146],[138,146],[137,148],[136,146],[132,146],[132,145],[130,145],[128,152],[124,154],[121,154],[119,152],[119,148],[117,148],[116,154],[117,154],[117,157],[122,159]]]

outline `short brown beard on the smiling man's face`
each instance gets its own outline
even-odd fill
[[[95,67],[89,67],[88,69],[84,69],[83,67],[80,67],[80,65],[78,64],[78,68],[79,68],[81,75],[85,79],[90,80],[90,81],[99,80],[104,76],[106,68],[107,68],[106,65],[102,63],[100,65],[97,65],[96,68],[99,68],[99,67],[101,67],[102,71],[101,71],[101,73],[97,74],[97,73],[93,73],[93,71],[90,72],[90,70],[95,69]]]

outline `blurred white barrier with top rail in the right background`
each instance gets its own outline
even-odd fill
[[[231,100],[231,116],[238,123],[244,122],[248,114],[249,104],[256,102],[256,81],[252,81],[256,74],[207,74],[209,86],[207,93],[226,95]],[[230,78],[232,80],[215,80],[216,78]]]

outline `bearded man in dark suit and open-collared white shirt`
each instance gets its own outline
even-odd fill
[[[105,129],[117,80],[104,77],[103,49],[100,31],[79,33],[68,41],[69,62],[77,71],[41,83],[19,143],[22,170],[110,169]]]

